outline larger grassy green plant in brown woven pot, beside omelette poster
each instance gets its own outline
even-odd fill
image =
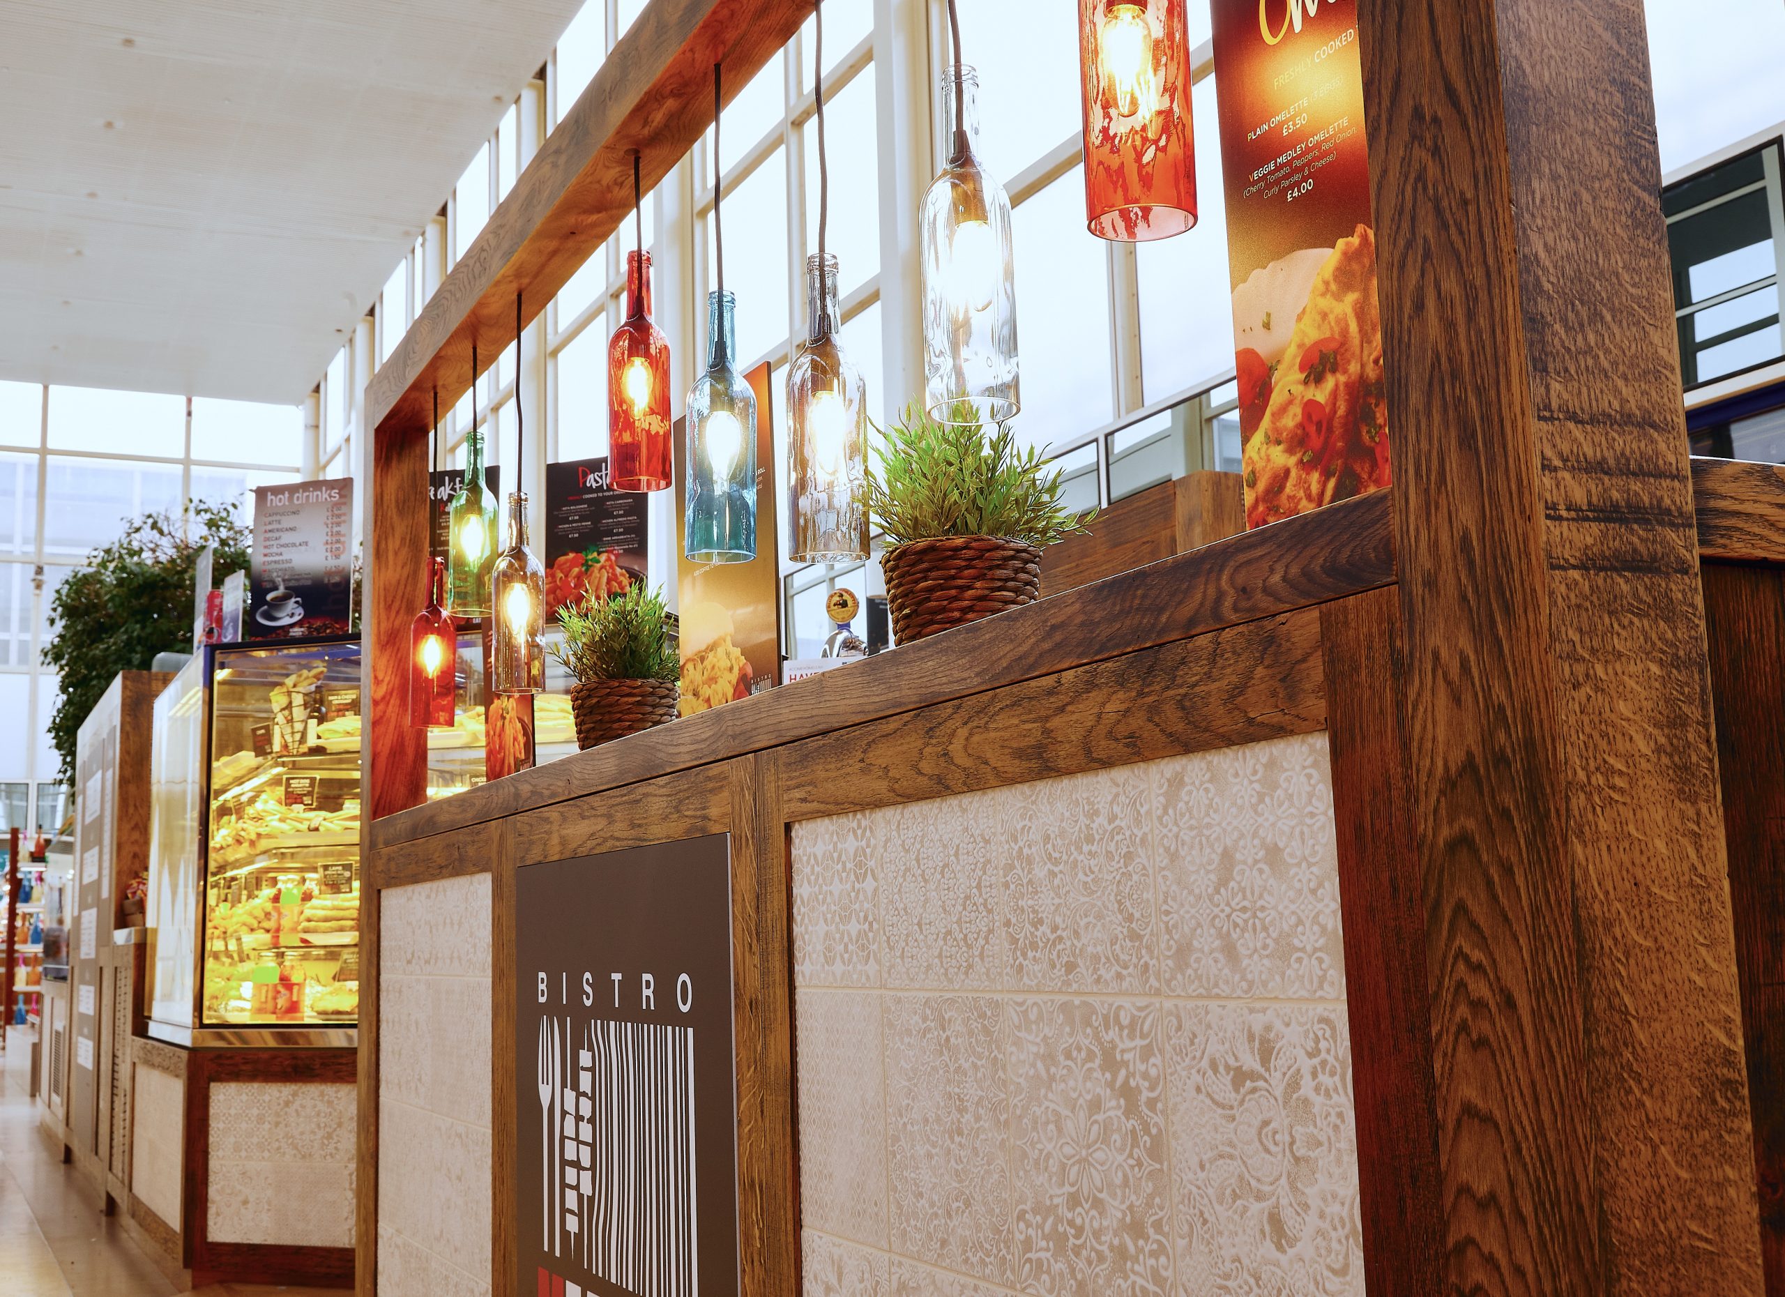
[[[939,423],[912,403],[880,432],[868,507],[887,537],[892,639],[909,644],[1039,599],[1041,551],[1092,517],[1060,503],[1060,471],[1019,448],[1009,426],[987,432],[966,405]]]

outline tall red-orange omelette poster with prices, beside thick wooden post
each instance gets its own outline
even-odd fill
[[[1355,0],[1214,0],[1246,526],[1389,485]]]

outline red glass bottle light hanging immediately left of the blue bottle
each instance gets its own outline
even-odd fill
[[[607,344],[607,466],[614,491],[669,487],[669,339],[652,323],[652,255],[627,253],[627,319]]]

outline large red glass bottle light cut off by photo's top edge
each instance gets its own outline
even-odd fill
[[[1078,0],[1085,221],[1146,243],[1196,225],[1191,36],[1183,0]]]

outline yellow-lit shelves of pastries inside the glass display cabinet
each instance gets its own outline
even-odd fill
[[[202,1026],[359,1012],[361,649],[216,649]]]

